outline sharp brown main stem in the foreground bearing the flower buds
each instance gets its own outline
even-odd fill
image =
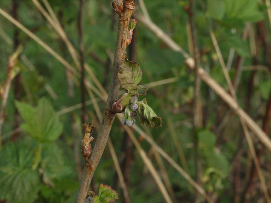
[[[92,151],[91,156],[89,157],[87,163],[89,166],[84,166],[82,178],[80,181],[79,189],[76,196],[76,203],[84,203],[87,196],[89,185],[93,177],[94,171],[101,159],[105,145],[113,124],[115,114],[111,113],[111,106],[115,100],[118,98],[120,82],[118,80],[118,71],[123,59],[123,54],[125,53],[126,48],[126,35],[128,29],[128,22],[132,15],[134,9],[133,0],[124,0],[124,10],[122,17],[119,17],[119,27],[117,35],[117,44],[115,49],[114,63],[113,63],[113,73],[110,83],[109,94],[107,98],[105,114],[100,125],[100,131],[97,136],[97,140]]]

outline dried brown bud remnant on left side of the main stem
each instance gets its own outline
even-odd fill
[[[92,122],[89,122],[88,124],[85,123],[82,125],[82,127],[85,130],[85,135],[84,135],[84,139],[81,140],[81,146],[82,146],[81,153],[84,156],[85,161],[88,161],[89,156],[92,151],[90,142],[92,142],[94,140],[94,138],[90,135],[91,135],[93,129],[95,128],[93,123],[94,122],[92,121]]]

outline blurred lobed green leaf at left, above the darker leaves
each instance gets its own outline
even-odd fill
[[[62,124],[56,115],[51,103],[42,98],[37,107],[31,107],[23,102],[15,102],[19,113],[25,121],[21,127],[38,142],[56,140],[62,133]]]

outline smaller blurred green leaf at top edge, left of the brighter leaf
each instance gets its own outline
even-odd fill
[[[225,13],[223,0],[207,0],[207,16],[221,20]]]

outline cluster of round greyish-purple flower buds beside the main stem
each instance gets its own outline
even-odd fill
[[[136,104],[137,97],[131,97],[129,104],[125,108],[125,115],[121,118],[123,125],[132,126],[135,124],[135,117],[137,116],[136,111],[138,105]]]

